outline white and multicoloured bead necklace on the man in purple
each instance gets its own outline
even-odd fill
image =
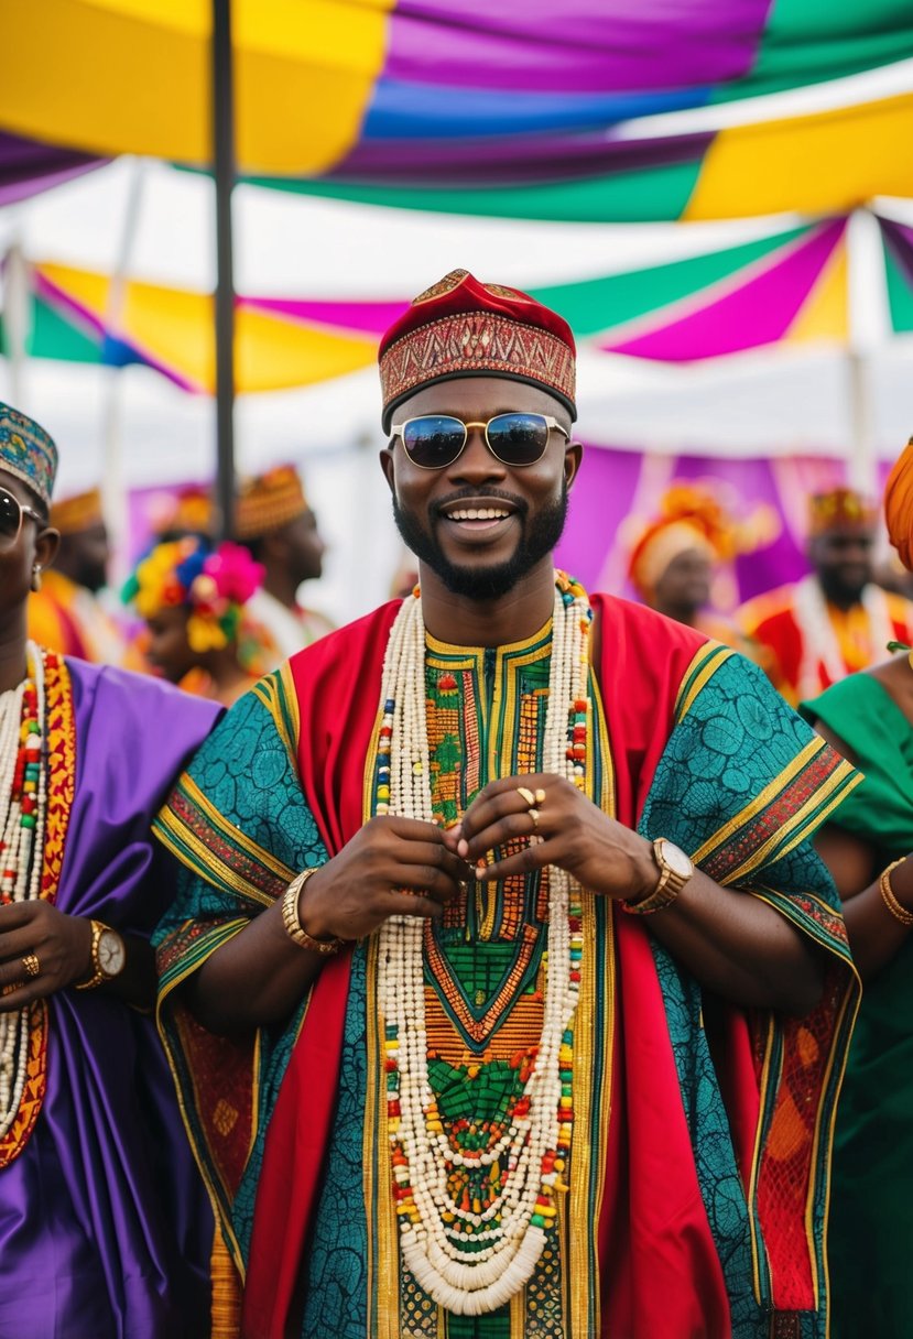
[[[47,817],[44,663],[29,641],[27,678],[0,694],[0,904],[42,892]],[[0,1138],[16,1118],[28,1067],[29,1011],[0,1014]]]

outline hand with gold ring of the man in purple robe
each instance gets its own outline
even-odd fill
[[[44,901],[0,907],[0,1012],[83,980],[91,963],[92,927],[84,917]]]

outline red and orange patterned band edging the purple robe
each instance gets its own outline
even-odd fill
[[[48,810],[42,897],[54,902],[58,896],[63,846],[72,809],[76,777],[76,728],[67,667],[63,660],[50,652],[46,653],[44,690],[47,695]],[[28,1019],[25,1089],[13,1123],[0,1139],[0,1169],[19,1157],[35,1129],[47,1089],[47,1043],[48,1008],[44,1000],[36,1000],[29,1008]]]

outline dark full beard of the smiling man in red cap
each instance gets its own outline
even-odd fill
[[[554,549],[566,517],[568,485],[562,479],[561,497],[546,503],[530,526],[525,524],[525,513],[518,513],[522,530],[513,557],[487,568],[459,566],[442,553],[434,518],[428,520],[428,529],[424,530],[412,513],[402,510],[394,494],[394,520],[406,546],[440,577],[452,595],[467,596],[470,600],[499,600],[513,590],[521,577]],[[438,520],[438,525],[446,524]]]

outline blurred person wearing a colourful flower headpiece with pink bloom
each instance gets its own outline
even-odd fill
[[[153,670],[224,706],[246,692],[260,672],[248,668],[244,608],[262,576],[240,544],[213,548],[198,536],[157,544],[123,588],[146,624]]]

